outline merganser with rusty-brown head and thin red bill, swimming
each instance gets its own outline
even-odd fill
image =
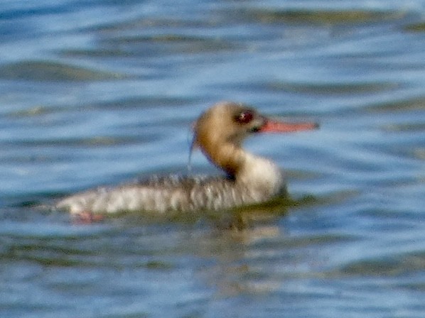
[[[222,210],[267,202],[286,194],[281,169],[271,160],[247,153],[242,141],[253,133],[287,133],[317,128],[314,123],[284,123],[242,104],[220,102],[200,115],[192,148],[200,148],[221,177],[154,176],[118,187],[99,187],[61,199],[56,207],[72,214],[146,211]],[[192,150],[192,149],[191,149]]]

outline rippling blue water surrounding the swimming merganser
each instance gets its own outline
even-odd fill
[[[424,317],[425,1],[2,1],[1,317]],[[75,224],[87,187],[185,172],[228,99],[321,130],[247,148],[299,201]],[[218,173],[196,153],[193,171]],[[303,199],[310,198],[310,199]]]

